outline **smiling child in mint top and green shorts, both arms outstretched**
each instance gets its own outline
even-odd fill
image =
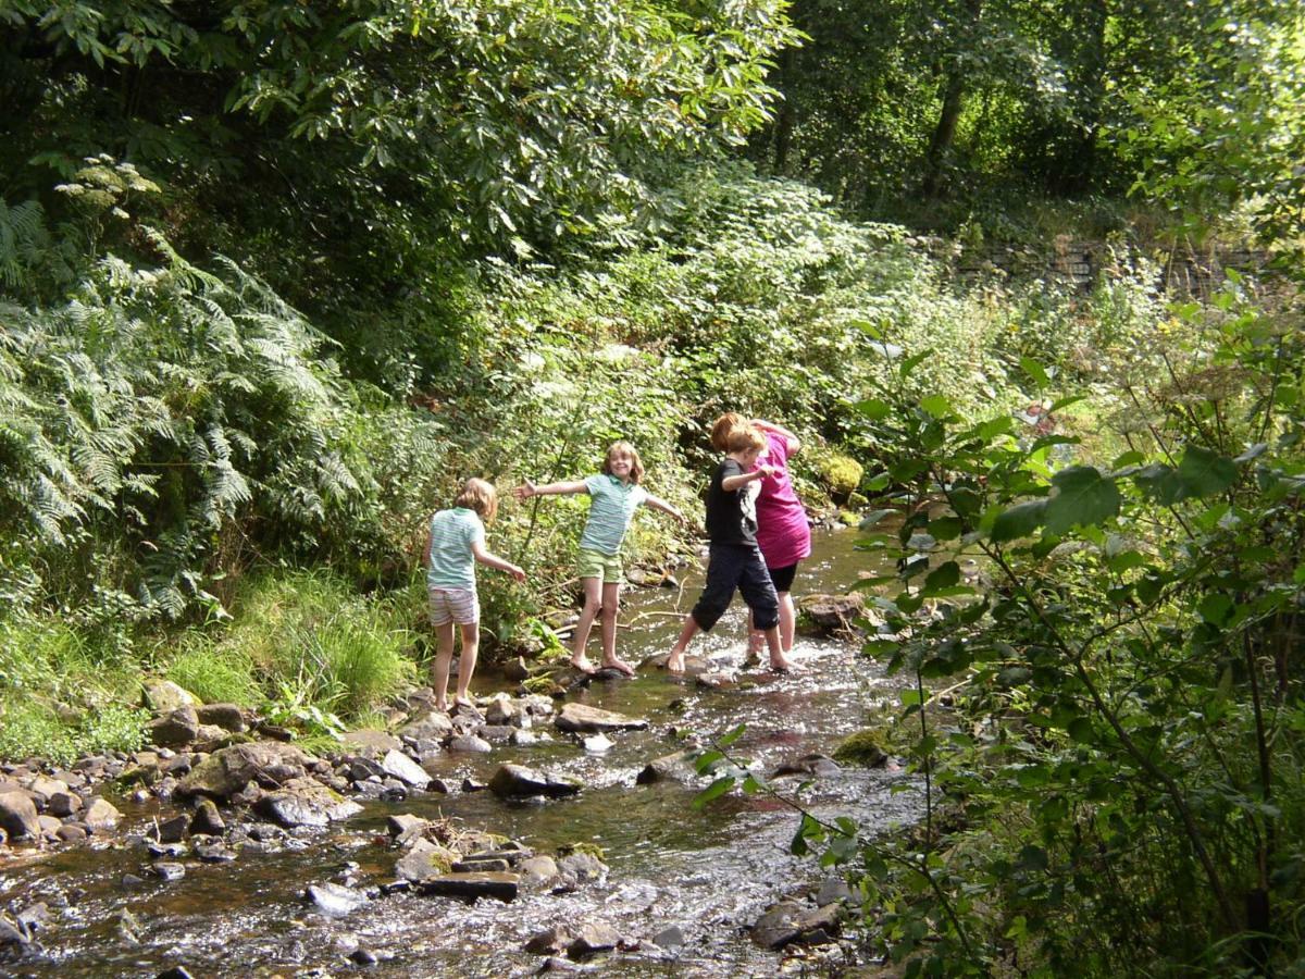
[[[684,520],[680,510],[666,500],[647,492],[639,480],[643,462],[639,453],[626,441],[612,443],[603,459],[603,471],[574,482],[535,486],[529,479],[513,492],[518,500],[531,496],[564,496],[589,493],[589,520],[579,536],[579,578],[585,586],[585,607],[576,623],[572,641],[572,666],[594,672],[594,664],[585,655],[594,619],[602,614],[603,666],[634,676],[634,667],[616,657],[616,615],[621,600],[621,540],[630,526],[634,510],[647,504],[652,509]]]

